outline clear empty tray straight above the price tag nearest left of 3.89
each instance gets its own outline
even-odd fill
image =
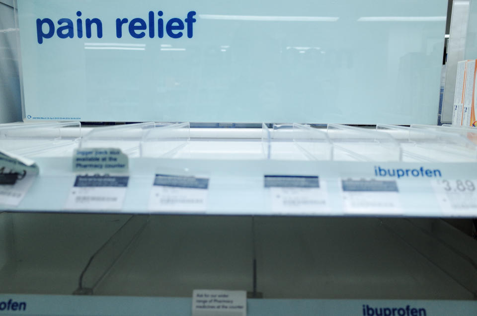
[[[327,133],[334,148],[333,160],[401,160],[399,143],[387,133],[341,124],[328,124]]]

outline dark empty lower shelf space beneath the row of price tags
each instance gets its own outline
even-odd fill
[[[0,226],[0,293],[477,297],[477,241],[438,219],[1,213]]]

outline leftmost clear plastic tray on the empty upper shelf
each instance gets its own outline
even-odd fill
[[[0,124],[0,149],[25,157],[71,156],[80,138],[80,122]]]

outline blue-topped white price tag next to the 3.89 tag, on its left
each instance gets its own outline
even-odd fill
[[[396,180],[342,179],[343,209],[356,214],[402,214]]]

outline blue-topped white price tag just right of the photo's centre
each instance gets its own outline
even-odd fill
[[[264,187],[270,189],[274,213],[316,214],[329,210],[325,182],[318,176],[265,175]]]

